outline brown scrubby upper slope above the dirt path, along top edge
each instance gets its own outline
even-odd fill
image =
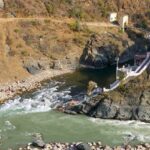
[[[4,2],[4,4],[3,4]],[[132,19],[149,15],[149,0],[1,0],[2,14],[20,17],[56,16],[86,20],[105,18],[110,11],[127,13]]]

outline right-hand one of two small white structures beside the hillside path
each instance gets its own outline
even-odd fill
[[[128,24],[129,24],[129,16],[128,15],[124,15],[124,16],[120,17],[119,25],[123,31],[125,30],[125,27],[128,26]]]

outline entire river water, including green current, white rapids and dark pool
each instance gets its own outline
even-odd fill
[[[41,89],[0,106],[0,150],[16,150],[31,142],[34,133],[41,133],[46,142],[102,141],[112,146],[150,142],[150,124],[70,116],[53,110],[62,101],[83,100],[89,80],[108,86],[115,80],[115,68],[57,77]]]

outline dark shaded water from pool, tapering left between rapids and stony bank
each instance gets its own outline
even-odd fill
[[[70,91],[70,95],[75,99],[82,99],[86,93],[89,81],[96,82],[100,87],[108,87],[115,81],[116,66],[110,66],[104,69],[79,69],[73,73],[64,74],[46,80],[42,83],[42,87],[34,89],[21,95],[20,101],[24,99],[34,98],[42,89],[49,89],[58,85],[57,91],[62,92],[66,89]]]

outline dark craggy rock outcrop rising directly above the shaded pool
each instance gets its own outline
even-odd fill
[[[146,47],[150,47],[149,42],[146,42],[142,33],[133,30],[117,35],[93,34],[84,48],[80,63],[84,67],[104,68],[113,65],[118,56],[120,63],[125,63],[132,60],[137,52],[146,51]]]

